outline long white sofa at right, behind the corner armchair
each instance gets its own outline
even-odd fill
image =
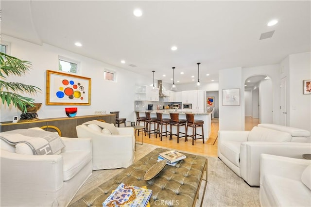
[[[250,186],[259,186],[260,154],[302,158],[310,143],[291,142],[288,132],[265,127],[251,131],[218,131],[218,157]]]

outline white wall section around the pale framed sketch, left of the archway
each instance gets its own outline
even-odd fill
[[[219,70],[219,130],[244,129],[244,81],[242,67]],[[240,106],[223,106],[223,89],[240,89]]]

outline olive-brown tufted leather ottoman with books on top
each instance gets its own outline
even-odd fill
[[[110,180],[84,195],[81,199],[71,204],[70,207],[102,207],[104,200],[120,183],[147,186],[148,189],[152,190],[152,196],[150,198],[151,206],[194,207],[198,198],[204,171],[206,170],[207,172],[206,158],[183,153],[187,158],[179,161],[175,166],[166,165],[151,180],[145,181],[143,178],[148,169],[156,163],[158,154],[167,150],[156,148],[142,159],[125,168],[118,175],[115,175]]]

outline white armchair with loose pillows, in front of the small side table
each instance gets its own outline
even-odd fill
[[[133,164],[135,156],[135,134],[133,127],[114,127],[118,134],[103,133],[103,128],[96,129],[94,124],[107,123],[88,122],[76,127],[79,138],[88,137],[93,141],[93,170],[126,168]],[[92,126],[92,127],[88,127]]]

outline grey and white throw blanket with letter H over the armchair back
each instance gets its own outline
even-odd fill
[[[65,147],[58,134],[36,129],[16,129],[1,132],[1,140],[12,145],[26,143],[34,155],[52,155]]]

